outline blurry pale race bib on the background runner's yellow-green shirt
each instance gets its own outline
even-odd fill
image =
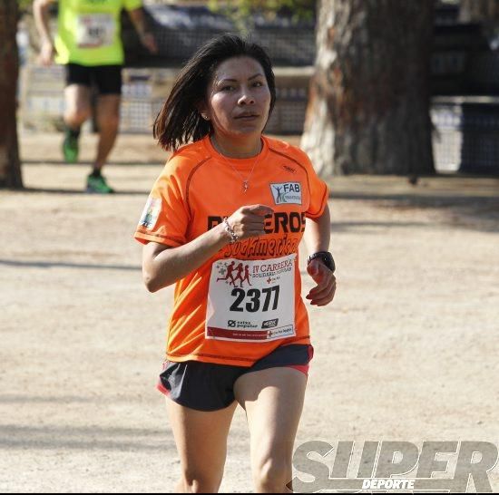
[[[76,44],[79,48],[99,48],[113,44],[116,23],[111,14],[78,15]]]

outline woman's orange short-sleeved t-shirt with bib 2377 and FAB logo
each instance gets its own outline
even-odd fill
[[[279,345],[310,342],[298,245],[306,218],[322,215],[328,187],[302,150],[262,141],[258,157],[228,159],[206,136],[175,152],[152,188],[135,232],[143,244],[176,248],[242,206],[274,210],[265,235],[227,245],[176,283],[170,361],[250,366]]]

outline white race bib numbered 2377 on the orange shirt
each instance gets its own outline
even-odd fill
[[[295,262],[293,254],[213,263],[205,337],[258,343],[296,335]]]

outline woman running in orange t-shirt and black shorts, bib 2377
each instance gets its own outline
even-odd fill
[[[313,354],[298,268],[304,233],[310,304],[328,305],[336,279],[326,184],[303,151],[262,135],[275,99],[267,53],[224,34],[185,65],[154,125],[174,152],[135,238],[147,288],[176,284],[158,388],[170,399],[179,492],[219,490],[238,403],[255,489],[289,491]]]

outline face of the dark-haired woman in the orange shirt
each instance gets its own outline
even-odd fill
[[[240,138],[260,134],[269,118],[270,91],[262,66],[250,57],[220,63],[203,109],[215,135]]]

